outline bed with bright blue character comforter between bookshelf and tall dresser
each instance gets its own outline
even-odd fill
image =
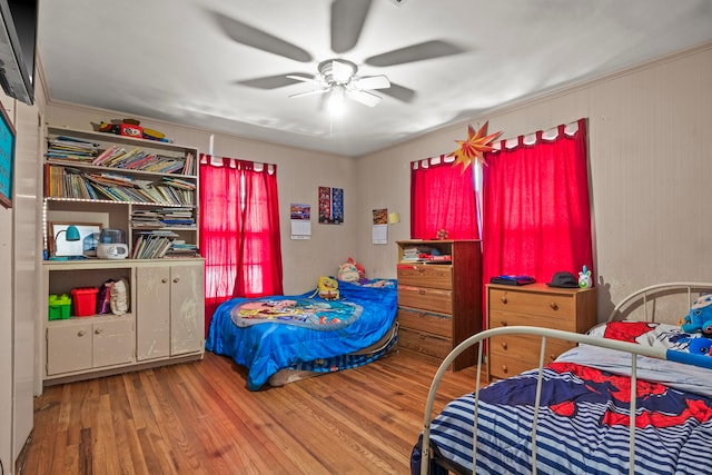
[[[396,281],[339,281],[338,289],[338,300],[309,291],[225,301],[212,316],[206,349],[245,366],[250,390],[283,369],[327,373],[392,352],[397,342]]]

